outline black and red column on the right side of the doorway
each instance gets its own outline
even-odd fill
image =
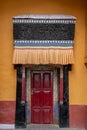
[[[59,126],[69,127],[68,65],[60,68]]]

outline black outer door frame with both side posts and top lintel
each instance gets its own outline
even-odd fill
[[[58,71],[57,77],[59,77],[58,84],[59,84],[59,89],[61,89],[60,85],[60,79],[61,79],[61,74],[60,70],[62,69],[62,75],[63,75],[63,102],[58,102],[58,108],[59,108],[59,127],[69,127],[69,71],[71,71],[71,65],[62,65],[62,66],[30,66],[30,65],[15,65],[15,69],[17,70],[16,73],[16,78],[17,78],[17,83],[16,83],[16,113],[15,113],[15,127],[16,128],[23,128],[26,127],[29,122],[27,122],[27,114],[30,114],[29,107],[27,104],[27,98],[29,98],[30,95],[28,95],[29,88],[27,87],[27,78],[26,78],[26,73],[25,73],[25,88],[26,88],[26,99],[24,102],[21,102],[21,92],[22,92],[22,79],[23,79],[23,70],[25,72],[27,70],[32,70],[32,69],[55,69]],[[28,77],[30,78],[30,73],[28,73]],[[30,83],[28,84],[30,86]],[[19,90],[20,88],[20,90]],[[59,95],[60,96],[60,92]],[[20,100],[19,100],[20,98]],[[59,99],[59,98],[58,98]],[[19,107],[20,105],[20,107]],[[21,111],[20,111],[21,109]],[[22,117],[20,120],[20,117]],[[29,117],[29,116],[28,116]],[[29,121],[29,120],[28,120]]]

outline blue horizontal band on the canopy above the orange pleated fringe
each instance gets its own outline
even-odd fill
[[[51,47],[51,46],[54,46],[54,47],[58,47],[58,46],[61,46],[61,47],[73,47],[73,45],[74,45],[74,43],[57,43],[57,42],[45,42],[45,43],[43,43],[43,42],[40,42],[40,43],[38,43],[38,42],[36,42],[36,43],[33,43],[33,42],[31,42],[31,43],[23,43],[23,42],[14,42],[14,46],[19,46],[19,47],[26,47],[26,46],[30,46],[30,47]]]

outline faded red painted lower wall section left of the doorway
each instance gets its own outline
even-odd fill
[[[15,101],[0,101],[0,124],[15,124]]]

